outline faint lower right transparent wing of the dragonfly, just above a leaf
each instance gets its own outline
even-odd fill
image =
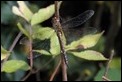
[[[66,37],[67,43],[71,43],[72,41],[76,41],[82,38],[84,35],[95,34],[97,29],[94,27],[83,27],[83,28],[70,28],[63,29],[63,32]]]

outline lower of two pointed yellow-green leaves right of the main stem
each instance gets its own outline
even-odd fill
[[[84,50],[81,52],[70,51],[69,53],[72,53],[73,55],[86,60],[93,60],[93,61],[107,60],[101,53],[93,50]]]

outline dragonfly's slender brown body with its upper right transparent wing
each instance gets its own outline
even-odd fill
[[[68,59],[66,56],[66,51],[64,49],[64,43],[62,41],[63,40],[62,28],[72,28],[72,27],[79,26],[79,25],[83,24],[84,22],[86,22],[89,18],[91,18],[93,14],[94,14],[93,10],[87,10],[84,13],[82,13],[82,14],[76,16],[75,18],[72,18],[62,24],[60,24],[59,19],[57,17],[53,18],[53,27],[54,27],[57,37],[59,39],[59,43],[60,43],[60,47],[61,47],[61,54],[62,54],[65,64],[67,66],[68,66]]]

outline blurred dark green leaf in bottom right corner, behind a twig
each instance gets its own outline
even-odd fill
[[[104,75],[105,68],[102,68],[95,76],[95,81],[102,81],[102,76]],[[121,70],[109,69],[107,78],[112,81],[121,81]]]

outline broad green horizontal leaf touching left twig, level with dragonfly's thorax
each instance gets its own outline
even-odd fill
[[[33,27],[33,39],[40,39],[40,40],[45,40],[49,39],[51,35],[54,33],[54,30],[49,27]]]

